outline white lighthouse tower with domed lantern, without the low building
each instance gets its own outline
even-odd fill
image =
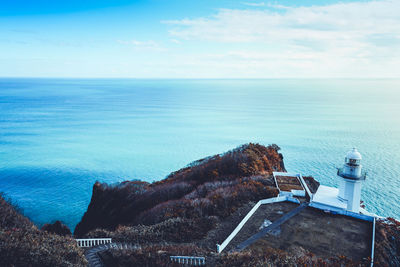
[[[340,176],[339,199],[347,201],[347,210],[358,213],[360,211],[361,185],[366,174],[362,172],[361,154],[353,148],[346,155],[343,168],[339,168]]]

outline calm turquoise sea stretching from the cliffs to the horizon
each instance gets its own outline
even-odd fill
[[[367,209],[399,218],[400,80],[0,79],[0,191],[74,228],[96,180],[154,181],[247,142],[337,185],[363,154]]]

